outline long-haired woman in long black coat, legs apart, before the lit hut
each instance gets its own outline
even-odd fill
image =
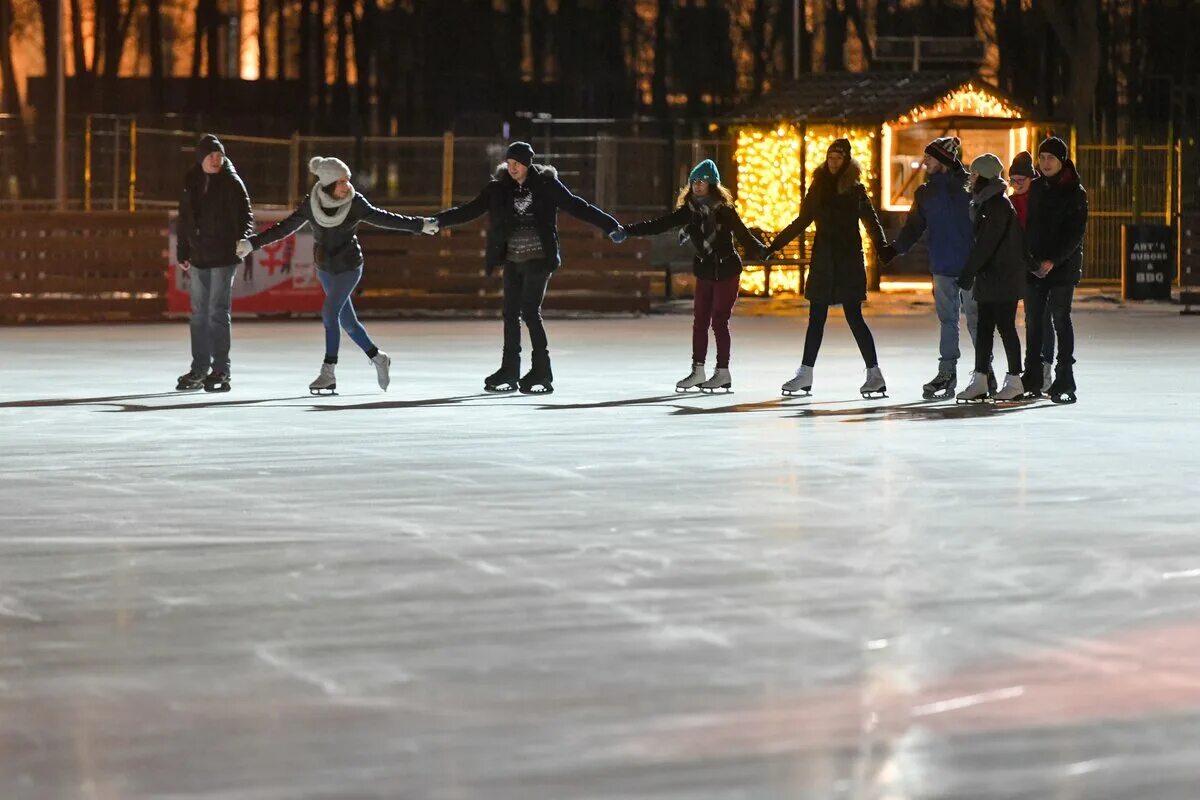
[[[894,254],[883,236],[880,218],[862,182],[863,169],[851,156],[850,142],[836,139],[829,145],[826,162],[816,169],[812,182],[800,204],[800,213],[770,242],[768,255],[782,249],[787,242],[816,223],[812,242],[812,261],[809,278],[804,284],[804,296],[809,301],[809,330],[804,337],[804,357],[796,377],[782,386],[785,395],[808,392],[812,387],[812,367],[816,365],[829,306],[841,305],[846,323],[854,335],[858,350],[866,363],[864,397],[883,396],[887,384],[880,371],[875,351],[875,338],[863,319],[863,302],[866,300],[866,263],[863,258],[863,240],[858,223],[866,225],[866,233],[876,252]]]

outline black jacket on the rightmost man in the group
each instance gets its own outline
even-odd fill
[[[1028,224],[1025,228],[1034,266],[1052,261],[1044,278],[1030,281],[1048,285],[1076,285],[1084,277],[1084,233],[1087,230],[1087,192],[1079,181],[1075,164],[1068,158],[1062,172],[1042,175],[1030,185]]]

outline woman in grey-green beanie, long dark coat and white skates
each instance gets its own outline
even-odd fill
[[[990,152],[971,162],[971,221],[974,239],[959,285],[971,289],[979,307],[979,327],[976,335],[976,368],[971,383],[959,392],[958,399],[982,401],[988,397],[988,373],[995,333],[1004,343],[1008,375],[994,397],[998,401],[1019,399],[1025,393],[1021,385],[1021,339],[1016,333],[1016,305],[1025,293],[1025,272],[1028,255],[1025,233],[1016,218],[1016,209],[1008,199],[1008,182],[1001,178],[1003,164]]]

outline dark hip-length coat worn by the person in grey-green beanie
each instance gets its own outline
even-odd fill
[[[1004,194],[1002,180],[991,180],[974,193],[974,242],[959,276],[964,289],[973,287],[978,302],[1016,302],[1025,296],[1030,257],[1016,210]]]

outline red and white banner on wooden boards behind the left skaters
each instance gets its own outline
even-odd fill
[[[289,211],[256,211],[254,224],[265,230],[283,219]],[[170,216],[170,241],[167,248],[169,279],[167,312],[188,314],[192,311],[191,272],[175,261],[176,219]],[[238,267],[233,282],[233,312],[247,314],[320,313],[325,291],[312,263],[312,231],[302,228],[294,236],[254,251]]]

